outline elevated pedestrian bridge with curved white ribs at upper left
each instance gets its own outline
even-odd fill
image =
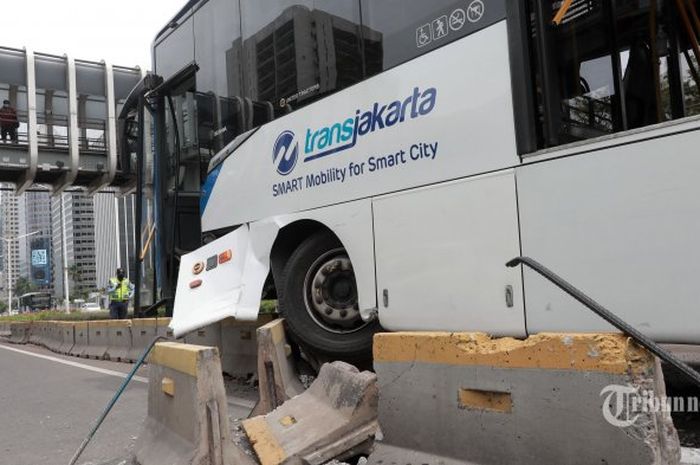
[[[9,100],[19,120],[16,141],[0,141],[0,182],[18,192],[34,184],[54,192],[127,187],[134,176],[120,146],[133,141],[117,115],[141,73],[0,47],[0,102]],[[131,150],[121,152],[131,158]]]

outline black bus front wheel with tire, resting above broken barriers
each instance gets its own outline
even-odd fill
[[[297,247],[280,288],[280,314],[302,347],[334,360],[371,360],[379,322],[360,318],[352,263],[333,234],[318,232]]]

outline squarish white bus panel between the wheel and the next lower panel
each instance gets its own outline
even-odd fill
[[[382,326],[524,337],[516,203],[513,170],[376,199]]]

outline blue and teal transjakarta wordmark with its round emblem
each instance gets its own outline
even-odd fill
[[[304,138],[304,162],[333,155],[350,149],[357,140],[375,131],[390,128],[407,119],[415,119],[429,114],[437,102],[437,89],[425,91],[415,87],[413,94],[404,100],[395,100],[385,105],[378,102],[372,109],[357,110],[354,117],[319,129],[307,129]],[[296,166],[299,147],[292,131],[284,131],[277,137],[272,151],[272,159],[281,175],[288,175]]]

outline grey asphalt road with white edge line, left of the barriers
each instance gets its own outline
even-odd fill
[[[0,342],[0,465],[67,465],[131,367]],[[144,375],[129,384],[79,464],[131,455],[146,415]]]

